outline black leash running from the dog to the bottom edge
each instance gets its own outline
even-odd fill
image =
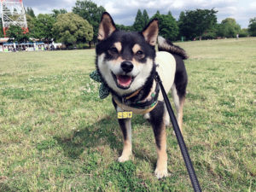
[[[160,89],[162,90],[162,94],[164,96],[164,99],[165,99],[165,102],[166,102],[166,108],[167,108],[167,111],[170,115],[170,118],[171,118],[171,121],[172,121],[172,126],[173,126],[173,129],[175,131],[175,135],[177,137],[177,143],[179,145],[179,148],[183,154],[183,160],[186,164],[186,167],[187,167],[187,170],[189,172],[189,177],[190,177],[190,181],[193,185],[193,188],[194,188],[194,191],[195,192],[201,192],[201,186],[198,182],[198,179],[196,177],[196,174],[195,174],[195,170],[194,170],[194,167],[192,165],[192,162],[190,160],[190,157],[189,157],[189,152],[188,152],[188,149],[186,147],[186,144],[184,143],[184,140],[183,140],[183,135],[179,129],[179,126],[177,125],[177,119],[173,113],[173,110],[172,110],[172,106],[171,106],[171,103],[166,95],[166,90],[161,82],[161,79],[160,79],[160,76],[159,74],[156,72],[155,74],[155,80],[160,84]]]

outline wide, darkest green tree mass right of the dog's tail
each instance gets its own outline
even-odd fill
[[[212,30],[217,26],[218,11],[214,9],[196,9],[182,12],[178,19],[178,27],[181,36],[194,39]]]

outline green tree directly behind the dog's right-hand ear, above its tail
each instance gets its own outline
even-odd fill
[[[172,41],[177,40],[177,35],[178,35],[177,21],[174,19],[171,12],[169,12],[168,15],[160,15],[160,12],[158,11],[153,16],[153,18],[157,18],[159,20],[160,36]]]

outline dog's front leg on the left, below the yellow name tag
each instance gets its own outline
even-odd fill
[[[119,119],[119,126],[124,139],[124,148],[119,162],[125,162],[131,155],[131,119]]]

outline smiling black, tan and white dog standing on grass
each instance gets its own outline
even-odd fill
[[[107,12],[102,14],[96,44],[96,71],[107,84],[118,113],[119,127],[123,133],[124,148],[119,162],[131,156],[131,116],[143,114],[153,127],[157,150],[154,174],[167,177],[166,125],[170,118],[155,81],[159,73],[166,92],[172,90],[177,109],[177,122],[183,124],[188,76],[183,60],[185,51],[169,40],[159,37],[158,20],[148,23],[142,32],[119,31]],[[159,51],[155,50],[158,42]]]

